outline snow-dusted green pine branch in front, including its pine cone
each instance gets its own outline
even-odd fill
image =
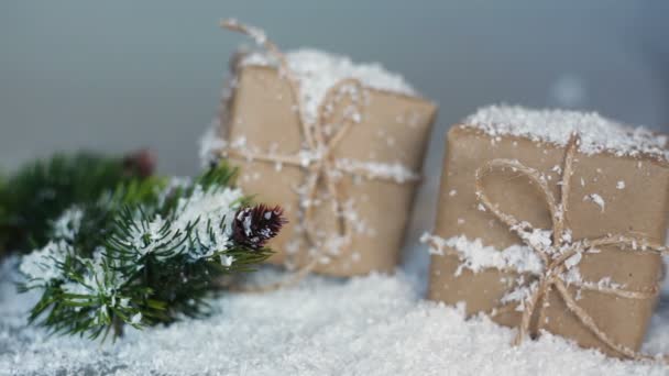
[[[21,288],[42,290],[31,321],[95,339],[208,314],[212,281],[267,258],[285,222],[251,207],[233,177],[221,165],[193,181],[132,180],[67,209],[20,265]]]

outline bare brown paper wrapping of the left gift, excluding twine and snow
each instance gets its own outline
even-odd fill
[[[399,163],[420,172],[427,140],[436,115],[434,103],[421,98],[364,89],[362,121],[353,125],[333,150],[334,158],[358,162]],[[350,104],[338,103],[336,112]],[[245,65],[237,69],[237,85],[223,103],[221,136],[229,142],[245,140],[245,147],[295,155],[304,148],[303,134],[290,87],[273,67]],[[230,156],[240,167],[238,185],[249,195],[266,203],[281,204],[289,223],[270,246],[277,253],[274,264],[299,267],[315,257],[300,231],[298,217],[304,185],[304,168],[289,165],[248,161]],[[363,275],[371,270],[391,272],[398,261],[416,184],[398,184],[342,174],[337,183],[350,204],[350,214],[359,218],[352,242],[337,255],[323,258],[315,272],[333,276]],[[322,185],[322,184],[321,184]],[[319,187],[325,189],[325,187]],[[327,236],[336,231],[338,218],[321,202],[312,218]],[[353,223],[353,225],[355,225]],[[316,250],[320,252],[320,250]]]

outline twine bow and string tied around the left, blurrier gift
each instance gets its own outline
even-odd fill
[[[290,70],[286,56],[281,49],[270,41],[265,33],[256,27],[244,25],[235,20],[221,22],[221,26],[251,36],[259,45],[264,47],[270,55],[278,62],[279,77],[286,79],[290,88],[292,97],[297,106],[298,121],[304,137],[306,150],[295,155],[278,155],[275,153],[255,153],[246,148],[230,147],[226,148],[226,154],[233,157],[245,158],[248,161],[265,162],[278,165],[289,165],[306,170],[306,184],[299,190],[300,195],[300,222],[304,225],[304,233],[307,242],[312,246],[321,246],[318,242],[319,234],[314,228],[312,218],[315,209],[320,201],[318,197],[319,183],[327,189],[328,198],[331,201],[331,209],[337,218],[336,242],[338,254],[341,254],[351,246],[351,225],[342,215],[344,209],[344,192],[338,179],[343,174],[355,174],[370,179],[382,179],[395,184],[406,184],[420,180],[417,173],[402,169],[399,174],[384,170],[383,168],[371,168],[364,163],[357,163],[349,159],[336,159],[333,151],[342,141],[351,128],[360,122],[363,115],[363,108],[358,107],[360,98],[364,93],[364,87],[360,80],[347,78],[328,89],[325,98],[318,107],[317,118],[309,122],[305,115],[305,103],[299,96],[299,81]],[[338,120],[339,128],[333,134],[330,133],[328,124],[337,121],[336,106],[343,99],[349,98],[351,103],[343,111],[341,120]],[[397,170],[395,170],[397,172]],[[322,252],[322,251],[321,251]],[[320,257],[314,255],[311,261],[303,266],[294,276],[276,285],[262,288],[263,291],[286,287],[301,280],[318,264]]]

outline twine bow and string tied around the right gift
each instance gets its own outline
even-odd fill
[[[559,202],[553,197],[548,187],[547,180],[541,176],[541,174],[534,168],[520,164],[518,161],[493,159],[485,163],[475,173],[475,191],[479,202],[483,204],[485,209],[490,210],[497,218],[497,220],[506,224],[512,232],[516,233],[531,250],[531,252],[534,252],[542,261],[544,264],[544,269],[539,275],[539,279],[530,281],[529,285],[523,286],[528,294],[523,301],[523,316],[518,332],[514,339],[514,344],[520,344],[524,339],[527,338],[528,333],[531,332],[535,334],[538,331],[538,328],[530,328],[533,318],[535,314],[538,314],[538,320],[534,321],[536,322],[537,327],[544,322],[544,310],[547,306],[547,297],[549,291],[555,288],[555,291],[557,291],[557,294],[564,301],[568,310],[573,313],[578,320],[602,343],[606,344],[608,347],[627,358],[656,358],[654,356],[637,353],[614,342],[597,327],[595,320],[577,303],[577,298],[574,298],[568,289],[569,285],[574,285],[580,289],[597,291],[600,294],[612,295],[623,299],[643,300],[654,298],[659,292],[659,286],[654,286],[644,291],[636,291],[627,290],[618,286],[607,287],[593,283],[573,280],[567,281],[566,272],[579,263],[582,254],[602,246],[619,246],[621,248],[633,250],[634,252],[652,252],[657,254],[669,253],[667,247],[649,242],[647,239],[622,234],[610,234],[602,237],[583,239],[579,241],[573,241],[571,239],[571,232],[566,225],[566,217],[569,212],[568,202],[571,187],[570,178],[573,175],[573,163],[579,142],[578,135],[572,134],[567,145],[561,174]],[[487,174],[500,168],[511,168],[514,173],[519,173],[529,178],[530,181],[533,181],[539,188],[544,199],[546,200],[552,221],[550,237],[546,236],[546,231],[535,229],[530,223],[519,221],[514,215],[503,212],[497,204],[490,200],[485,193],[482,180]],[[432,245],[435,244],[436,242],[432,241]],[[461,256],[461,254],[454,250],[441,251],[446,251],[446,253],[459,257]],[[505,270],[517,273],[517,270],[514,270],[513,268],[505,268]],[[507,311],[509,308],[515,307],[503,302],[500,307],[494,308],[490,313],[495,316]]]

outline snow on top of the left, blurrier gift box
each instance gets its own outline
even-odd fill
[[[305,118],[309,123],[317,119],[318,107],[328,90],[342,79],[355,78],[368,88],[416,95],[402,76],[387,71],[379,63],[353,63],[346,56],[311,48],[287,52],[286,59],[299,82]],[[266,53],[256,52],[245,56],[241,64],[275,66],[276,62]]]

